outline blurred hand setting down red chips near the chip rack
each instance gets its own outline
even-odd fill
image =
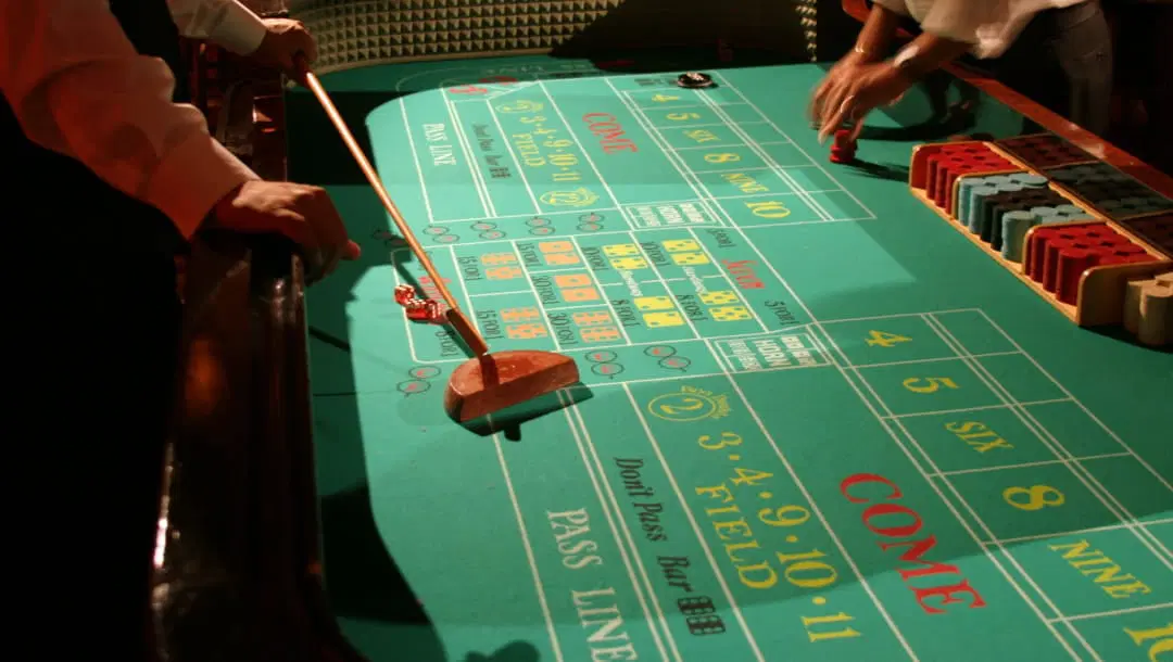
[[[863,116],[880,105],[900,101],[911,81],[889,62],[859,64],[849,75],[826,89],[813,111],[818,111],[819,142],[840,128],[850,125],[852,139],[863,129]]]

